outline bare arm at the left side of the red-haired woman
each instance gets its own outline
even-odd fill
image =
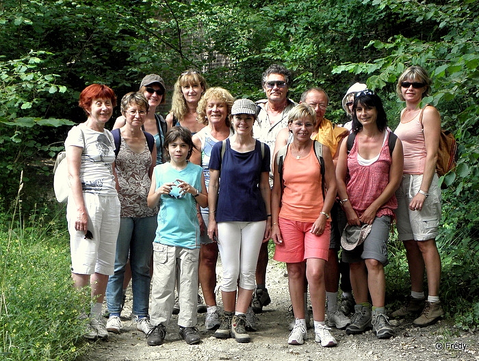
[[[88,212],[86,210],[80,180],[81,153],[83,153],[83,148],[81,147],[75,147],[73,145],[66,147],[68,181],[70,182],[71,194],[77,208],[75,229],[86,232],[88,230]]]

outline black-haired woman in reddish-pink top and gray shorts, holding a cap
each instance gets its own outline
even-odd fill
[[[384,266],[388,263],[391,220],[398,207],[394,192],[401,182],[403,154],[399,139],[389,142],[393,135],[387,129],[383,103],[372,90],[354,95],[352,136],[352,147],[348,149],[348,142],[343,142],[339,150],[338,194],[348,219],[346,229],[354,225],[371,227],[363,243],[342,253],[343,260],[350,264],[356,301],[346,334],[361,334],[372,328],[377,338],[390,338],[393,329],[385,312]],[[367,299],[368,290],[372,305]]]

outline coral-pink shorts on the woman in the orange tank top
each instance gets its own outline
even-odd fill
[[[321,236],[309,232],[312,222],[290,221],[279,217],[278,223],[283,243],[275,245],[274,260],[286,263],[303,262],[308,258],[328,260],[331,222],[326,222],[326,229]]]

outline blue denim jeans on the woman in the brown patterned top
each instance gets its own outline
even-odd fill
[[[111,314],[120,314],[123,278],[129,254],[133,314],[148,316],[150,261],[156,229],[157,216],[120,219],[120,232],[116,241],[115,273],[109,276],[106,292],[107,308]]]

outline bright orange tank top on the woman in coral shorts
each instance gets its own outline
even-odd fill
[[[320,162],[313,147],[300,159],[291,155],[290,147],[283,162],[285,187],[279,216],[291,221],[315,222],[323,208]]]

